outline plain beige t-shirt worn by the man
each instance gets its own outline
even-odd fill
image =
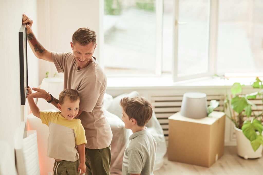
[[[52,52],[52,59],[58,72],[64,73],[64,89],[72,88],[80,95],[78,117],[85,129],[89,149],[102,149],[110,145],[112,131],[104,116],[103,97],[107,88],[107,77],[96,58],[87,67],[78,70],[72,54]]]

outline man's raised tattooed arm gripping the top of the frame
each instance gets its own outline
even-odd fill
[[[39,43],[32,31],[33,20],[23,14],[22,24],[27,24],[27,39],[35,56],[39,59],[53,62],[51,51],[46,50],[42,44]]]

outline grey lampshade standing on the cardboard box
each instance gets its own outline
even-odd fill
[[[184,93],[180,114],[182,116],[195,119],[206,117],[206,94],[200,92]]]

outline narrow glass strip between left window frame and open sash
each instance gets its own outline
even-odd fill
[[[162,72],[171,73],[173,55],[173,1],[164,0],[163,8],[163,59]]]

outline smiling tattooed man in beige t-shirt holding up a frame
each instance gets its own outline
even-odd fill
[[[107,78],[93,57],[96,48],[95,31],[80,28],[70,42],[72,52],[57,53],[46,50],[32,32],[33,21],[23,14],[23,24],[27,24],[28,43],[39,59],[53,62],[58,72],[64,73],[64,89],[72,88],[80,95],[78,118],[85,129],[86,174],[110,174],[110,142],[112,131],[103,114],[103,96]],[[58,99],[43,89],[33,88],[36,93],[27,98],[44,98],[57,107]]]

